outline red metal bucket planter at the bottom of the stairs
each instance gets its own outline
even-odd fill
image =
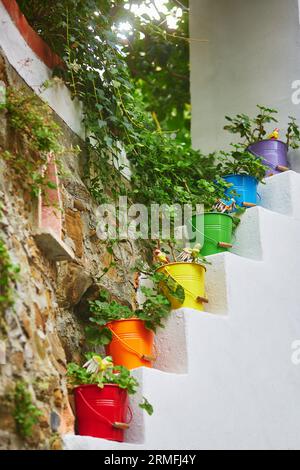
[[[77,434],[124,442],[124,431],[129,428],[132,412],[128,393],[118,385],[81,385],[74,389]]]

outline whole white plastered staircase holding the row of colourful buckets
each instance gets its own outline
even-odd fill
[[[210,257],[209,313],[173,312],[160,370],[134,372],[154,415],[137,396],[126,443],[68,435],[67,449],[300,449],[300,176],[260,192],[264,208],[243,216],[234,253]]]

